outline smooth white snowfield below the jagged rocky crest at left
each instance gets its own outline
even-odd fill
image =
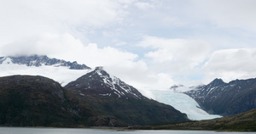
[[[13,64],[7,58],[0,64],[0,76],[7,75],[42,75],[58,81],[64,87],[67,83],[77,80],[80,76],[89,73],[91,70],[69,70],[69,67],[54,65],[26,66],[25,64]]]

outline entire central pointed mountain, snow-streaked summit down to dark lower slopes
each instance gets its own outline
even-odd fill
[[[128,125],[152,125],[188,121],[172,106],[145,98],[134,87],[111,77],[101,67],[65,87],[81,102],[88,102],[104,117],[115,117]],[[90,119],[96,125],[102,117]]]

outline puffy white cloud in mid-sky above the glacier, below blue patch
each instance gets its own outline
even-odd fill
[[[167,39],[155,36],[146,36],[138,45],[153,49],[145,53],[145,57],[153,60],[154,63],[178,65],[173,71],[187,67],[194,68],[207,58],[210,50],[209,44],[201,40]]]

